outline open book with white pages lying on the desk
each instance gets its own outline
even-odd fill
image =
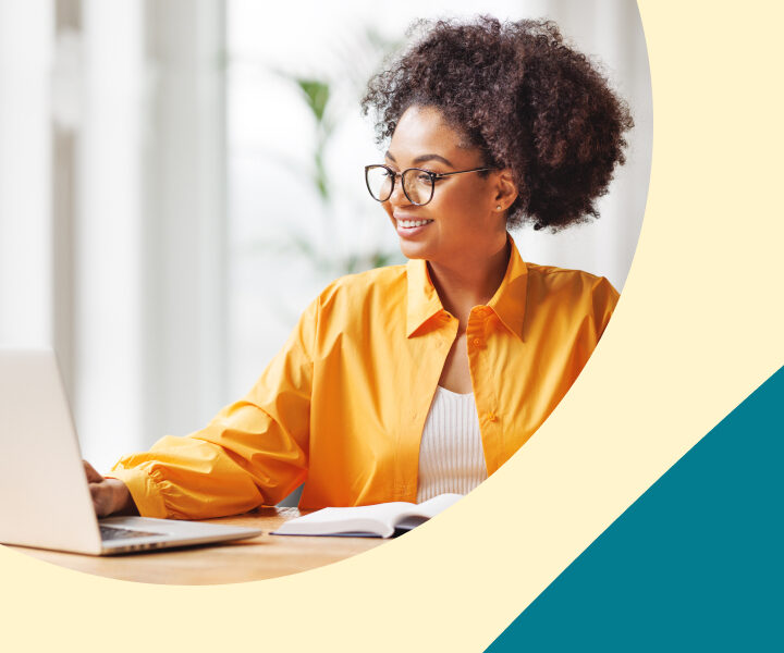
[[[323,508],[291,519],[270,534],[391,538],[395,530],[411,530],[461,498],[462,494],[439,494],[420,504],[399,501],[352,508]]]

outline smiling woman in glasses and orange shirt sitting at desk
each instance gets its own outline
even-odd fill
[[[552,23],[438,22],[363,100],[368,190],[406,266],[345,276],[246,397],[187,438],[85,464],[96,510],[207,518],[468,492],[537,430],[617,301],[603,278],[525,263],[507,233],[597,215],[625,104]]]

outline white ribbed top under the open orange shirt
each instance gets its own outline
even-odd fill
[[[417,503],[446,492],[467,494],[487,479],[474,393],[440,385],[419,445]]]

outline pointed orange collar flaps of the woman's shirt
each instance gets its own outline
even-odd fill
[[[506,329],[523,340],[528,268],[517,251],[514,238],[509,233],[506,237],[512,246],[510,261],[501,285],[488,306]],[[409,260],[406,263],[406,274],[408,278],[406,335],[411,337],[425,322],[442,311],[443,305],[430,280],[427,262],[424,259]]]

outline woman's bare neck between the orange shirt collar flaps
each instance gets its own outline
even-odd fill
[[[487,251],[487,250],[486,250]],[[470,309],[485,305],[501,285],[509,266],[512,246],[505,237],[490,256],[486,252],[442,263],[428,261],[430,279],[443,307],[465,329]]]

